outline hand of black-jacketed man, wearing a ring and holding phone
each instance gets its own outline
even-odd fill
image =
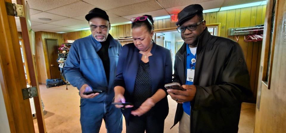
[[[189,102],[192,101],[195,97],[197,88],[195,85],[182,85],[182,88],[186,91],[168,89],[168,94],[175,100],[177,103]]]

